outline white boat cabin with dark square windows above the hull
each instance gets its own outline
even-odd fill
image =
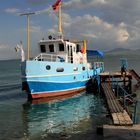
[[[79,43],[63,39],[41,40],[40,55],[35,60],[87,64],[87,54],[81,52],[81,47]]]

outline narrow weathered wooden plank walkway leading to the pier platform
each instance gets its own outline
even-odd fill
[[[128,113],[122,108],[108,83],[101,83],[114,125],[133,125]]]

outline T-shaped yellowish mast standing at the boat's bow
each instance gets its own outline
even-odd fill
[[[30,16],[35,13],[24,13],[20,14],[20,16],[26,16],[27,17],[27,27],[26,27],[26,32],[27,32],[27,60],[30,59]]]

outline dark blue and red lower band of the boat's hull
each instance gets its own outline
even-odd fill
[[[27,89],[28,94],[32,99],[42,97],[60,96],[73,94],[86,90],[88,81],[79,81],[72,83],[53,83],[53,82],[24,82],[24,89]],[[25,88],[26,86],[26,88]]]

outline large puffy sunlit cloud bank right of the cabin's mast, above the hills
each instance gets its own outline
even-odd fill
[[[107,45],[111,47],[123,46],[130,40],[130,33],[124,22],[111,24],[97,16],[86,14],[83,16],[71,17],[69,14],[63,14],[64,36],[72,39],[88,39],[94,42],[97,47],[102,49]],[[53,34],[57,32],[57,25],[49,29]]]

